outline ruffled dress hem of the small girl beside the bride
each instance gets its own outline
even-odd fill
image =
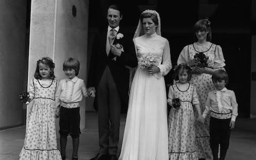
[[[186,153],[169,153],[170,160],[197,160],[197,153],[186,152]]]

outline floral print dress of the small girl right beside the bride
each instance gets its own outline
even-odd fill
[[[179,84],[179,83],[178,83]],[[181,99],[179,110],[171,108],[169,114],[169,159],[196,160],[196,129],[193,106],[199,104],[194,85],[182,91],[177,84],[170,86],[167,102],[173,98]]]

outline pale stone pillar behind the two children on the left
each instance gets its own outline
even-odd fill
[[[65,78],[62,64],[68,57],[80,61],[79,78],[86,83],[89,0],[43,0],[31,2],[28,79],[33,78],[36,61],[49,56],[58,80]],[[85,127],[85,99],[81,103],[81,129]],[[29,110],[29,107],[28,107]],[[56,121],[59,130],[59,119]]]

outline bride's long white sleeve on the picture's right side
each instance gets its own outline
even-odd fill
[[[165,41],[165,46],[163,50],[162,64],[158,65],[157,67],[160,69],[160,72],[158,72],[158,78],[166,75],[172,69],[170,45],[167,39]]]

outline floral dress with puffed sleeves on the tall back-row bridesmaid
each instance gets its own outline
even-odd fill
[[[210,42],[204,45],[194,43],[185,46],[179,55],[177,64],[179,65],[180,63],[187,63],[190,66],[193,65],[194,56],[199,52],[202,52],[209,57],[207,63],[210,68],[223,69],[225,66],[225,60],[221,47]],[[212,75],[207,73],[193,74],[191,83],[196,87],[201,111],[203,112],[205,109],[205,102],[208,92],[214,90]],[[197,119],[197,112],[195,112],[195,117]],[[213,159],[210,148],[209,127],[210,116],[206,117],[204,124],[196,122],[196,145],[198,158]]]

